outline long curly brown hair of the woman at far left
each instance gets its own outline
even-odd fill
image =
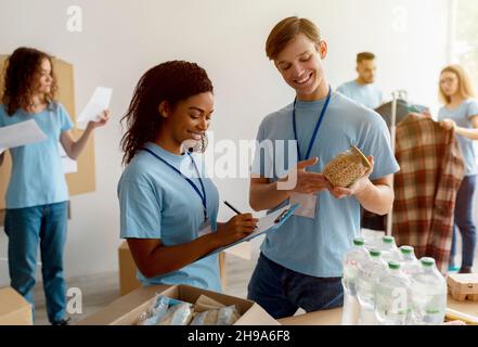
[[[53,73],[52,57],[34,48],[17,48],[9,56],[5,64],[5,78],[2,93],[2,103],[7,113],[12,116],[18,108],[26,110],[31,102],[40,78],[41,63],[47,59],[51,64],[52,85],[46,101],[51,104],[57,91],[56,78]]]

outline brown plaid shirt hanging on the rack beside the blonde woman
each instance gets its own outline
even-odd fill
[[[453,130],[423,114],[397,125],[392,235],[411,245],[417,257],[432,257],[445,273],[450,257],[453,210],[464,177],[464,160]]]

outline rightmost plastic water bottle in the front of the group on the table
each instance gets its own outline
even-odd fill
[[[421,260],[422,272],[412,275],[413,321],[419,325],[442,324],[447,310],[447,281],[435,259]]]

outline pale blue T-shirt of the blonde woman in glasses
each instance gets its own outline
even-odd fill
[[[461,128],[473,129],[470,116],[478,115],[478,102],[473,99],[467,99],[454,110],[449,110],[445,106],[438,112],[438,119],[444,118],[453,119]],[[477,153],[474,142],[461,134],[456,134],[460,149],[462,150],[463,158],[465,160],[465,176],[478,174],[477,168]]]

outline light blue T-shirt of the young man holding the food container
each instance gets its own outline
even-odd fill
[[[302,157],[324,102],[325,99],[297,101],[297,136]],[[289,104],[267,116],[259,127],[257,140],[294,140],[292,114],[293,104]],[[374,111],[360,106],[339,93],[333,93],[310,154],[310,157],[319,157],[319,163],[308,170],[321,172],[326,163],[347,151],[351,144],[357,145],[365,155],[374,156],[372,180],[399,170],[383,118]],[[271,167],[287,167],[283,159],[284,153],[277,155],[275,150],[272,153],[266,150],[266,155],[260,159],[258,151],[261,151],[259,146],[256,150],[253,174],[272,176],[271,180],[275,181],[281,170]],[[295,146],[293,151],[296,151]],[[284,171],[279,177],[283,175]],[[267,235],[261,250],[271,260],[300,273],[322,278],[341,277],[343,256],[360,233],[360,204],[353,196],[337,200],[328,191],[316,195],[315,218],[292,216],[277,231]],[[284,202],[277,208],[287,203],[288,201]]]

